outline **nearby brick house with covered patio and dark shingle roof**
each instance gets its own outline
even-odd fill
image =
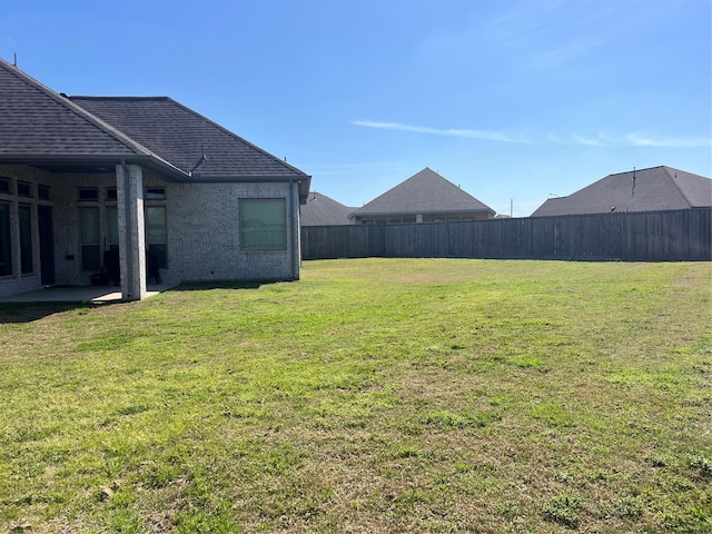
[[[125,300],[149,276],[298,279],[309,182],[170,98],[67,97],[0,60],[0,296],[102,267]]]

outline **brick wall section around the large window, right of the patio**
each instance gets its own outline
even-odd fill
[[[240,198],[286,199],[286,250],[240,248]],[[298,279],[298,202],[296,184],[167,184],[168,268],[161,277],[168,283]]]

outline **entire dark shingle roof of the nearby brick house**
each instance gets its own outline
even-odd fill
[[[0,60],[0,162],[123,160],[174,180],[294,180],[301,200],[309,191],[308,175],[168,97],[66,97]]]

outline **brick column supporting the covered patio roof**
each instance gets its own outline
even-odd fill
[[[146,237],[144,229],[144,174],[138,165],[116,166],[119,215],[121,297],[146,297]]]

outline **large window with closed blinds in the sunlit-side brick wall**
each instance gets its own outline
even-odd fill
[[[287,217],[284,198],[241,199],[240,247],[244,250],[286,250]]]

